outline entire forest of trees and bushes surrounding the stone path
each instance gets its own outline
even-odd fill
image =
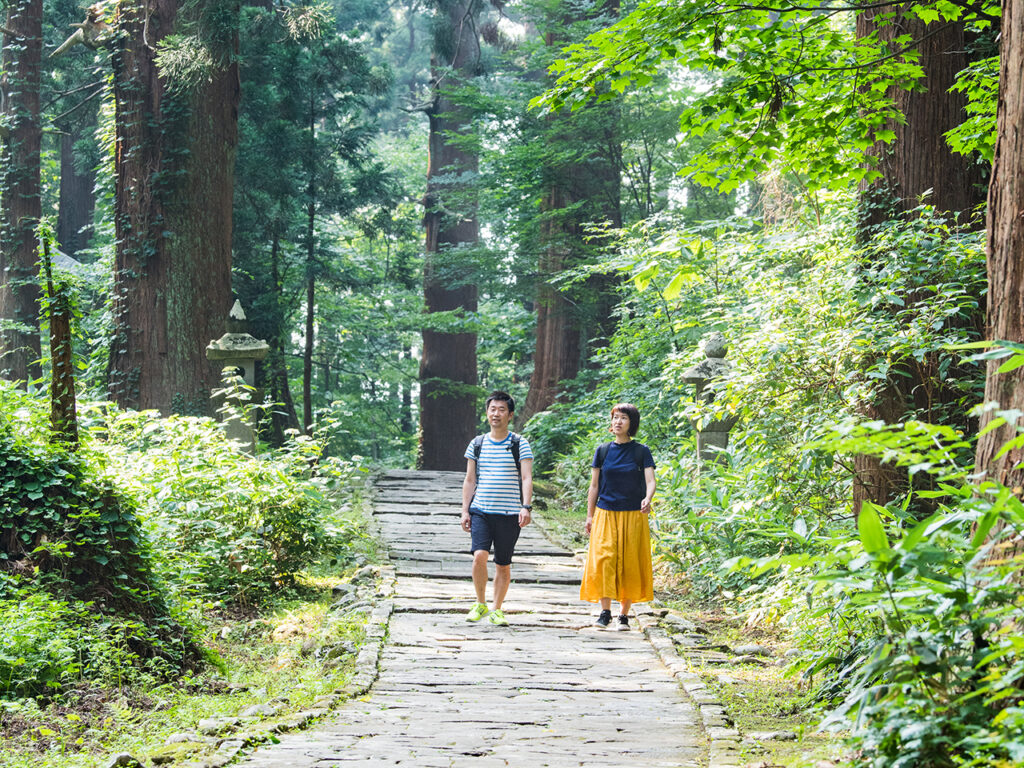
[[[144,709],[228,616],[372,559],[360,470],[460,469],[503,388],[570,518],[639,407],[667,579],[784,628],[850,762],[1024,759],[1021,0],[5,7],[26,754],[99,749],[54,713]],[[205,354],[236,298],[257,390]]]

